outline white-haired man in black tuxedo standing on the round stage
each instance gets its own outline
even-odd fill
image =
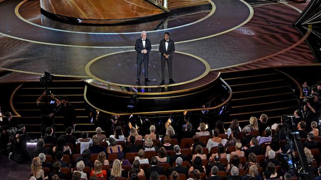
[[[135,50],[137,51],[137,81],[136,83],[140,82],[140,73],[142,69],[142,63],[144,62],[144,69],[145,69],[145,82],[151,82],[148,79],[148,60],[149,60],[149,52],[152,50],[151,40],[146,38],[147,33],[146,31],[142,31],[141,38],[136,40],[135,43]]]

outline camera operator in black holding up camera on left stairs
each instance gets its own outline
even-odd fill
[[[40,102],[41,100],[42,102]],[[41,137],[45,135],[45,130],[47,127],[51,126],[53,129],[55,129],[54,113],[55,108],[59,105],[59,99],[57,99],[53,94],[50,94],[49,97],[46,90],[37,99],[37,106],[41,113]]]

